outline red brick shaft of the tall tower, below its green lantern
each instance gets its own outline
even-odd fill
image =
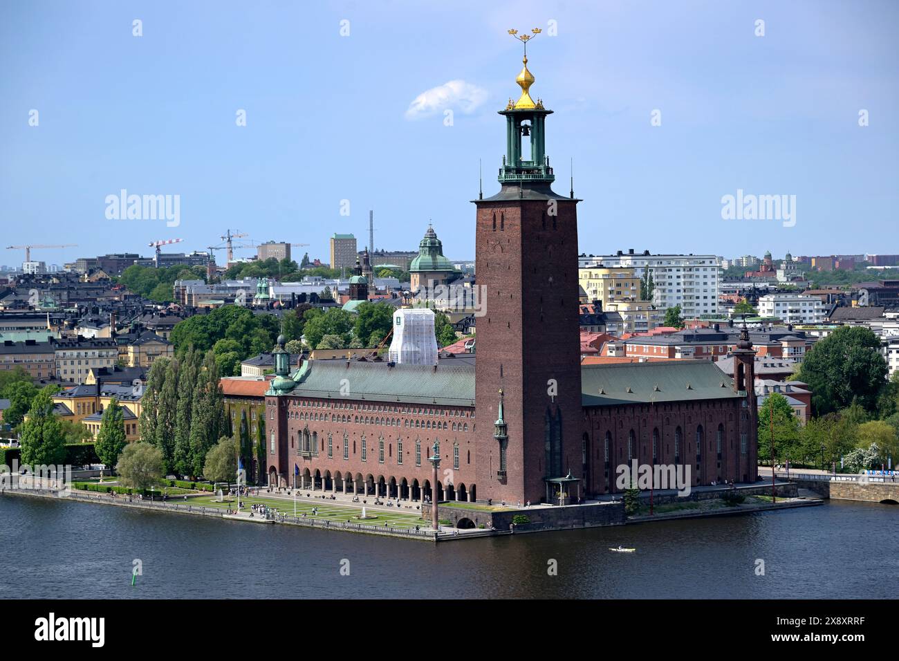
[[[545,415],[561,409],[562,466],[581,467],[581,367],[577,306],[576,202],[477,202],[477,284],[486,288],[477,320],[478,498],[522,503],[546,496]],[[494,213],[496,228],[494,229]],[[547,394],[555,380],[557,395]],[[497,477],[493,438],[498,391],[505,393],[507,477]],[[561,476],[553,476],[561,477]]]

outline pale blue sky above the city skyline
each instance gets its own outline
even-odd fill
[[[415,249],[431,219],[449,257],[472,258],[478,158],[492,194],[496,111],[518,95],[521,44],[506,30],[532,27],[544,31],[532,94],[555,111],[557,191],[574,158],[581,251],[899,253],[890,0],[7,0],[2,247],[78,244],[32,256],[62,264],[149,255],[165,238],[205,249],[239,228],[326,260],[333,232],[368,243],[374,209],[376,247]],[[410,111],[422,94],[438,97],[432,114]],[[106,219],[105,197],[123,188],[180,195],[180,226]],[[738,189],[796,195],[796,225],[722,219]]]

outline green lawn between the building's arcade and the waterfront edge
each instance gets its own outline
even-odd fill
[[[228,507],[236,507],[237,502],[236,499],[232,499],[230,503],[217,503],[216,499],[218,496],[199,496],[195,498],[189,498],[186,503],[182,503],[182,505],[192,505],[194,507],[218,507],[219,509],[227,509]],[[293,516],[293,500],[287,498],[271,498],[267,496],[241,496],[240,498],[241,505],[246,504],[245,507],[241,509],[242,512],[249,511],[249,505],[268,505],[270,507],[274,507],[278,509],[280,514],[287,514],[288,516]],[[312,514],[312,508],[318,508],[318,514]],[[359,516],[362,512],[361,507],[352,507],[349,505],[334,505],[333,503],[328,503],[327,501],[319,501],[319,502],[310,502],[308,499],[297,499],[297,516],[302,516],[304,513],[307,514],[307,519],[315,519],[316,521],[342,521],[346,522],[347,519],[350,520],[351,523],[364,523],[366,525],[376,525],[383,526],[384,523],[387,523],[388,527],[391,528],[405,528],[411,529],[416,525],[421,526],[422,528],[430,528],[430,522],[424,522],[421,518],[421,514],[419,513],[411,513],[411,512],[403,512],[402,510],[391,512],[389,509],[387,511],[383,510],[373,510],[371,507],[368,507],[366,510],[366,514],[368,516],[377,516],[377,519],[365,519],[359,520],[353,517]]]

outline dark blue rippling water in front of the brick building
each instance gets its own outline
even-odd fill
[[[433,544],[4,496],[0,598],[894,598],[897,524],[895,505],[832,501]]]

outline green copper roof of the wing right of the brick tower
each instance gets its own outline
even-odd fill
[[[581,368],[583,406],[740,397],[734,380],[707,361],[624,362]]]

